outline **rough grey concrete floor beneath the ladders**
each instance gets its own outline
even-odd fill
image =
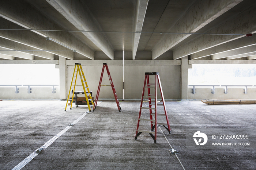
[[[121,113],[114,101],[103,101],[97,111],[85,115],[22,169],[182,170],[159,129],[156,144],[146,133],[134,140],[140,101],[122,101],[120,105]],[[255,131],[256,105],[205,105],[201,101],[168,101],[166,105],[172,134],[161,129],[173,148],[180,151],[177,156],[186,170],[256,169],[255,143],[207,149],[192,149],[186,144],[186,131],[191,129]],[[0,109],[1,170],[14,168],[88,111],[82,105],[64,112],[65,101],[59,100],[4,100]],[[140,126],[149,127],[142,121]],[[254,137],[250,136],[251,142],[256,141]]]

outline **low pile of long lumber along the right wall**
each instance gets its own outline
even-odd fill
[[[256,104],[255,99],[202,100],[204,104]]]

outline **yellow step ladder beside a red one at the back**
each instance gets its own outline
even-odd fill
[[[75,75],[75,72],[76,72],[76,75]],[[82,85],[76,84],[78,73],[79,73],[79,77],[80,77]],[[75,81],[73,82],[74,77],[75,77]],[[86,102],[87,102],[89,111],[91,112],[89,101],[91,101],[91,104],[94,105],[93,97],[91,96],[91,93],[90,93],[90,90],[89,90],[88,84],[86,82],[86,79],[85,79],[85,76],[84,76],[84,73],[83,73],[83,69],[82,69],[82,66],[81,66],[80,63],[75,63],[75,69],[74,69],[73,77],[72,77],[72,80],[71,80],[71,85],[70,85],[70,88],[69,88],[68,99],[69,99],[69,94],[71,92],[72,86],[74,86],[74,90],[72,92],[72,101],[71,101],[70,109],[72,109],[72,103],[73,103],[73,99],[74,99],[74,93],[75,93],[76,86],[83,86],[83,91],[84,91],[84,95],[85,95],[85,98],[86,98]],[[87,92],[86,92],[86,90],[87,90]],[[66,104],[66,107],[65,107],[65,111],[67,109],[68,99],[67,99],[67,104]]]

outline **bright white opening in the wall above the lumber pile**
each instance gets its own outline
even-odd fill
[[[193,64],[189,85],[256,85],[255,64]]]

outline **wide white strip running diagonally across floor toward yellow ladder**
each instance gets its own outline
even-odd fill
[[[97,105],[99,105],[102,101],[100,101]],[[20,170],[25,165],[27,165],[33,158],[35,158],[42,150],[49,147],[56,139],[58,139],[61,135],[63,135],[65,132],[67,132],[74,124],[78,123],[79,120],[83,119],[84,116],[86,116],[89,113],[89,110],[85,112],[82,116],[80,116],[78,119],[76,119],[73,123],[68,125],[64,130],[62,130],[59,134],[55,135],[52,139],[48,140],[43,146],[35,150],[32,154],[30,154],[27,158],[25,158],[22,162],[20,162],[18,165],[16,165],[12,170]]]

